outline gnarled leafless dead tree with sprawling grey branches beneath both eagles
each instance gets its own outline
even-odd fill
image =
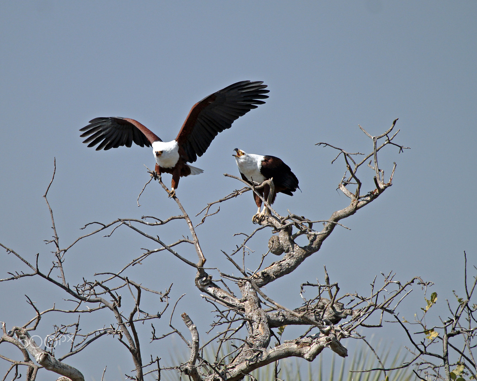
[[[117,337],[131,353],[135,376],[130,376],[130,378],[138,381],[143,380],[144,375],[149,373],[158,372],[160,376],[161,370],[176,370],[188,375],[194,381],[235,381],[243,379],[251,371],[267,364],[278,364],[278,361],[284,358],[300,357],[312,361],[325,348],[330,348],[342,357],[347,356],[347,349],[340,342],[343,338],[361,338],[356,333],[358,327],[380,327],[385,314],[394,315],[396,313],[399,303],[411,292],[412,284],[418,284],[422,288],[426,288],[429,283],[419,277],[401,282],[394,279],[394,274],[389,273],[387,275],[383,274],[382,281],[376,281],[376,278],[374,278],[369,295],[363,296],[349,292],[340,294],[338,284],[330,282],[325,268],[323,282],[317,281],[317,283],[303,283],[300,285],[302,301],[298,307],[286,307],[283,302],[270,298],[263,290],[271,282],[290,274],[306,258],[319,251],[321,244],[330,236],[335,227],[345,228],[340,222],[341,220],[353,215],[392,186],[396,164],[394,163],[390,177],[385,179],[384,171],[378,165],[378,152],[388,145],[397,147],[399,153],[407,148],[393,141],[399,132],[399,130],[393,132],[395,123],[396,120],[394,120],[390,129],[379,136],[370,135],[360,126],[363,133],[372,140],[373,149],[368,154],[350,153],[327,143],[317,143],[338,150],[338,155],[332,162],[340,157],[344,160],[346,170],[338,184],[338,189],[350,199],[349,205],[339,211],[333,211],[327,220],[316,220],[298,216],[290,211],[288,215],[281,216],[270,207],[267,200],[262,199],[270,209],[270,214],[265,215],[259,221],[259,226],[247,235],[242,244],[235,250],[229,253],[222,251],[225,258],[238,271],[236,275],[222,272],[215,263],[209,268],[205,267],[206,255],[201,249],[195,226],[177,197],[173,198],[180,210],[177,216],[171,216],[166,220],[143,216],[141,219],[118,219],[108,224],[94,222],[92,224],[99,225],[97,230],[79,237],[71,245],[62,249],[56,234],[53,213],[46,200],[47,190],[44,197],[51,212],[54,231],[53,240],[50,242],[55,246],[55,251],[53,251],[55,260],[52,267],[48,271],[41,271],[38,266],[38,259],[36,264],[31,264],[24,256],[0,243],[7,252],[14,254],[29,268],[28,273],[10,272],[9,277],[0,281],[8,282],[32,276],[40,277],[53,283],[68,295],[73,307],[67,310],[59,310],[53,305],[52,308],[40,312],[36,305],[29,300],[35,311],[35,316],[32,319],[26,321],[21,327],[12,327],[9,331],[3,325],[3,336],[0,343],[5,341],[15,345],[23,355],[22,360],[1,356],[2,359],[9,361],[11,364],[7,375],[13,369],[18,373],[18,368],[24,366],[27,368],[28,380],[34,380],[40,368],[55,371],[71,380],[82,380],[83,376],[80,371],[72,370],[71,367],[62,363],[62,360],[84,350],[91,342],[104,335]],[[357,160],[357,158],[360,158],[360,160]],[[371,173],[373,173],[375,188],[363,191],[360,177],[366,176],[364,170],[370,171],[368,167],[371,168]],[[219,212],[218,209],[210,213],[213,205],[229,201],[247,191],[256,192],[259,187],[264,186],[264,184],[257,183],[249,186],[248,183],[235,176],[228,174],[225,174],[225,176],[242,181],[245,186],[221,200],[207,204],[196,215],[197,217],[204,212],[199,224],[204,223],[208,217]],[[159,178],[158,181],[167,191],[162,180]],[[273,187],[273,179],[267,181],[268,185]],[[142,226],[148,226],[160,229],[162,225],[174,220],[184,220],[188,231],[187,234],[184,234],[183,239],[175,242],[165,242],[159,238],[159,235],[152,235],[142,228]],[[316,226],[320,226],[320,230],[317,230]],[[119,227],[129,228],[144,236],[147,240],[154,242],[156,249],[144,252],[140,257],[125,264],[121,271],[95,274],[96,278],[93,281],[85,280],[82,284],[71,287],[63,271],[63,261],[67,251],[79,240],[105,230],[110,231],[108,236],[111,236]],[[247,244],[255,235],[267,234],[268,231],[272,232],[268,251],[262,255],[258,268],[254,271],[249,270],[245,261],[245,253],[249,250]],[[191,238],[186,238],[187,235],[190,235]],[[306,245],[300,246],[296,243],[295,240],[299,236],[306,237]],[[181,248],[184,245],[192,245],[195,248],[197,261],[187,258],[187,255],[182,253]],[[211,323],[212,328],[220,330],[212,339],[200,343],[199,331],[189,317],[192,311],[184,312],[181,316],[190,332],[191,341],[188,341],[186,335],[172,326],[172,314],[176,309],[177,301],[169,321],[172,331],[156,336],[153,326],[151,338],[152,341],[156,341],[164,339],[169,334],[177,334],[190,348],[190,358],[187,362],[169,367],[161,367],[159,358],[153,354],[150,355],[149,362],[145,363],[143,361],[141,338],[135,330],[135,324],[139,321],[155,321],[161,318],[169,304],[170,287],[163,292],[153,291],[124,275],[127,269],[135,263],[145,261],[147,257],[159,251],[170,253],[180,261],[179,263],[184,266],[191,266],[197,271],[195,285],[201,292],[204,301],[213,307],[215,318]],[[269,253],[280,256],[280,259],[270,263]],[[238,255],[234,257],[236,254]],[[242,256],[241,261],[235,260],[234,258],[239,257],[240,254]],[[52,277],[53,273],[55,274],[54,278]],[[218,277],[217,280],[213,279],[212,273]],[[60,277],[60,281],[57,281],[56,275]],[[128,313],[121,309],[122,300],[119,290],[127,290],[133,300],[134,307]],[[305,298],[303,293],[306,290],[314,290],[314,296]],[[162,312],[145,312],[144,310],[147,308],[140,307],[142,292],[156,294],[159,300],[164,303]],[[41,317],[50,311],[77,313],[78,316],[81,316],[82,313],[94,312],[91,309],[84,309],[83,306],[86,303],[88,305],[94,304],[96,306],[94,311],[110,310],[114,317],[114,323],[105,324],[104,327],[90,331],[87,334],[80,334],[78,317],[78,322],[75,324],[57,326],[52,335],[54,341],[61,340],[67,333],[73,334],[75,341],[71,344],[71,350],[68,353],[56,359],[53,351],[38,351],[38,345],[29,338],[28,332],[36,329]],[[369,323],[370,320],[373,322]],[[281,333],[287,325],[303,326],[303,333],[293,340],[282,341],[280,339]],[[276,340],[275,345],[270,345],[272,338]],[[204,349],[210,345],[216,346],[215,356],[212,359],[204,355]],[[223,354],[221,350],[224,349],[229,351]],[[31,360],[30,356],[35,359],[36,363]],[[278,380],[278,365],[275,369],[277,370],[275,377]]]

